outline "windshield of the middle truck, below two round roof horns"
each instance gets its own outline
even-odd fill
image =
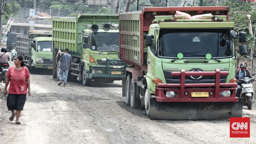
[[[91,50],[119,51],[119,33],[92,33]]]

